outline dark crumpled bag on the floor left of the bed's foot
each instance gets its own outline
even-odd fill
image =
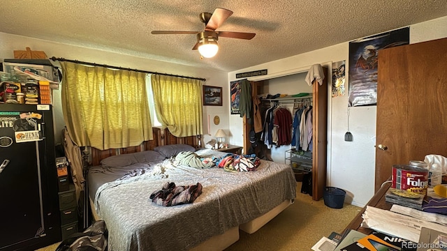
[[[62,241],[56,251],[106,251],[108,231],[103,220],[94,222],[82,233],[72,234]]]

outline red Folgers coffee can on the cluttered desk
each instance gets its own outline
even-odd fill
[[[393,165],[392,187],[423,195],[427,194],[428,169],[423,161],[412,160],[410,165]]]

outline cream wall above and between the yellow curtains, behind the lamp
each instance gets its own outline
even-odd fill
[[[62,43],[54,43],[48,40],[40,40],[36,38],[29,38],[24,36],[15,36],[8,33],[0,33],[0,59],[13,59],[14,50],[25,50],[25,47],[30,47],[31,50],[44,51],[47,56],[62,57],[65,59],[73,59],[78,61],[86,61],[90,63],[101,63],[109,66],[121,66],[124,68],[132,68],[138,70],[147,70],[158,73],[170,73],[175,75],[183,75],[190,77],[201,77],[207,79],[205,85],[221,86],[223,93],[223,100],[229,100],[229,87],[227,81],[227,73],[217,70],[203,70],[201,68],[193,68],[177,63],[166,63],[162,61],[155,61],[145,59],[142,57],[128,56],[126,54],[119,54],[117,52],[105,52],[101,50],[89,49],[86,47],[79,47],[73,45],[66,45]],[[60,88],[53,91],[53,105],[54,105],[54,123],[55,123],[55,137],[59,142],[60,130],[64,127],[64,117],[61,112]],[[204,106],[203,107],[203,133],[205,139],[203,142],[210,140],[207,135],[207,116],[211,114],[219,114],[221,117],[221,124],[214,126],[212,123],[211,133],[217,131],[218,128],[223,128],[228,131],[228,110],[229,102],[223,102],[223,106]]]

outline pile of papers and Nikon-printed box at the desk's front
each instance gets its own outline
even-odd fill
[[[393,205],[390,211],[367,206],[365,235],[350,230],[334,251],[447,251],[447,216]]]

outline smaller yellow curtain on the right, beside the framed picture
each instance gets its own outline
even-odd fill
[[[151,84],[161,125],[176,137],[201,135],[202,81],[153,74]]]

